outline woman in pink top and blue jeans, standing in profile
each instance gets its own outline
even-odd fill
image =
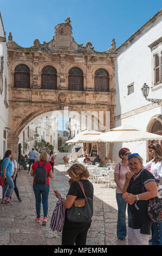
[[[118,221],[117,221],[117,236],[120,240],[124,240],[127,235],[126,229],[126,207],[127,203],[122,198],[122,188],[125,184],[125,175],[129,170],[128,155],[131,154],[129,149],[122,148],[119,150],[121,162],[117,163],[114,170],[114,180],[116,182],[116,202],[118,204]],[[131,217],[128,212],[128,221]]]

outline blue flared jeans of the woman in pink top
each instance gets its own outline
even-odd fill
[[[118,221],[117,221],[117,236],[119,239],[124,239],[127,235],[126,228],[126,207],[127,203],[122,198],[122,193],[116,193],[116,202],[118,204]],[[128,212],[128,222],[131,218],[131,212]]]

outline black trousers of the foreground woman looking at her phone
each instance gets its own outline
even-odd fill
[[[87,233],[91,223],[81,227],[66,228],[62,230],[62,245],[86,245]]]

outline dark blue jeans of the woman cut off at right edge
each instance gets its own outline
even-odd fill
[[[153,222],[151,224],[152,245],[162,245],[162,222]]]

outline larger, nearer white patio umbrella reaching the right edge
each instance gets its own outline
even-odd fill
[[[102,133],[98,137],[98,142],[135,142],[135,141],[153,141],[161,140],[162,136],[151,132],[145,132],[135,127],[122,125],[112,129],[109,132]],[[96,141],[95,141],[96,142]]]

